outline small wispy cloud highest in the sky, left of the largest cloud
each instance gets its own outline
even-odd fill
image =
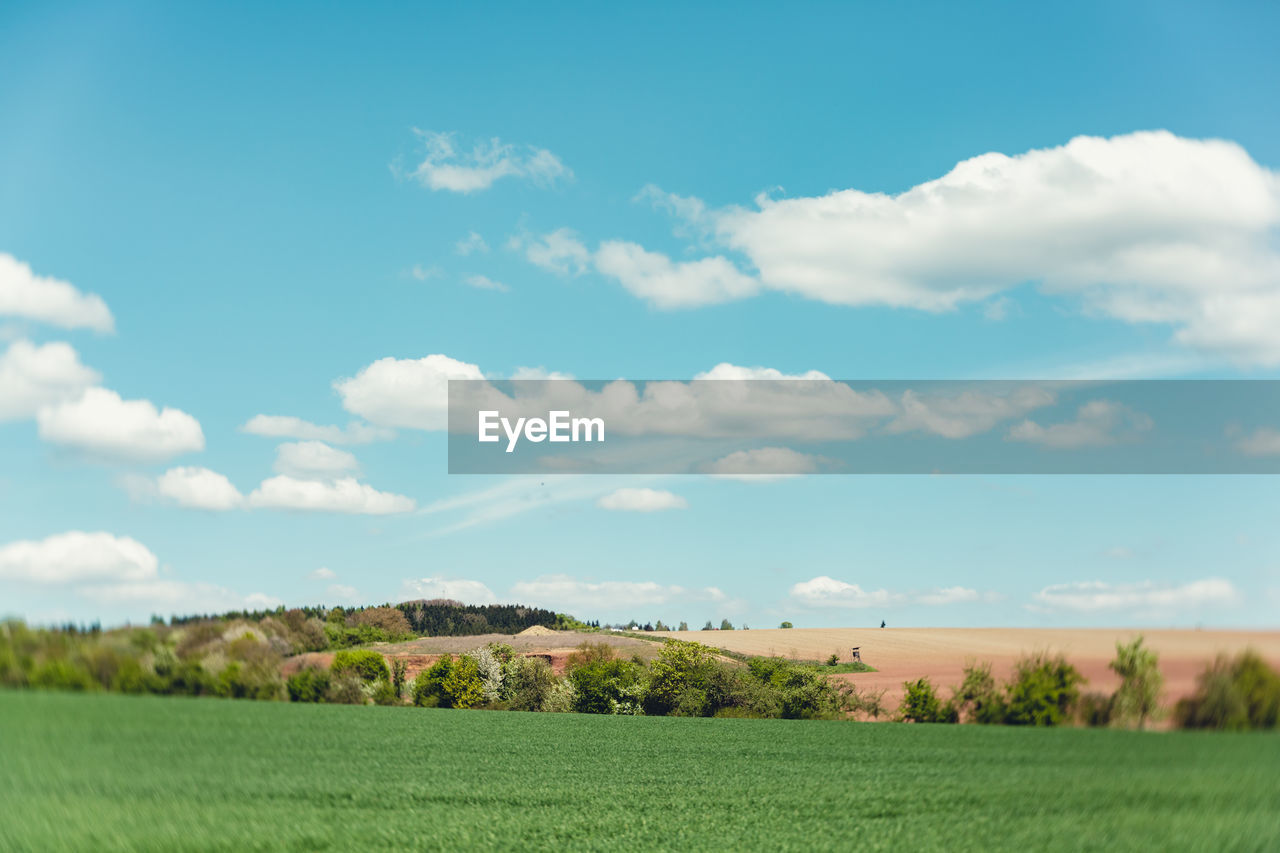
[[[429,190],[476,192],[488,190],[502,178],[525,178],[535,184],[571,179],[573,173],[545,149],[516,146],[502,140],[481,140],[470,152],[458,152],[453,133],[413,132],[422,140],[426,154],[410,173]]]

